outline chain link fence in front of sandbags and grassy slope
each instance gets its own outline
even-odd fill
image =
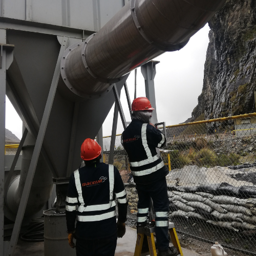
[[[183,246],[189,240],[209,251],[219,241],[230,255],[256,255],[256,117],[232,118],[166,127],[160,155],[170,171],[170,221]],[[125,184],[128,217],[136,220],[138,196],[120,139],[114,165]],[[110,142],[103,138],[105,163]]]

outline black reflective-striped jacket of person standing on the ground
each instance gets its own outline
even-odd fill
[[[126,193],[116,167],[97,163],[96,167],[84,166],[75,170],[70,177],[66,198],[68,230],[75,229],[76,220],[78,237],[98,238],[99,233],[103,237],[112,235],[116,231],[116,201],[118,219],[124,222]]]

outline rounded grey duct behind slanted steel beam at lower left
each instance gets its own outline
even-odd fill
[[[5,216],[12,221],[15,221],[17,215],[34,145],[35,139],[30,133],[28,133],[22,151],[22,167],[20,170],[20,175],[14,177],[14,179],[11,181],[6,195]],[[52,187],[53,183],[51,170],[48,168],[44,158],[40,155],[30,189],[28,203],[24,215],[25,219],[26,217],[31,217],[37,214],[37,212],[42,209],[50,198]]]

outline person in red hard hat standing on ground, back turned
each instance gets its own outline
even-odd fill
[[[84,166],[71,175],[66,198],[69,245],[76,247],[77,256],[114,256],[127,214],[121,176],[115,166],[100,163],[101,147],[95,140],[84,140],[81,158]]]

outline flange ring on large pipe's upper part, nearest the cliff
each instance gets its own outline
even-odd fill
[[[169,42],[155,42],[150,39],[150,37],[147,36],[147,34],[143,31],[142,27],[139,24],[139,20],[136,15],[136,0],[131,0],[131,13],[132,13],[132,18],[134,21],[134,24],[136,28],[138,29],[139,33],[141,36],[151,45],[153,45],[155,48],[157,48],[160,51],[164,52],[174,52],[174,51],[179,51],[182,49],[189,39],[187,41],[181,42],[180,44],[170,44]]]

